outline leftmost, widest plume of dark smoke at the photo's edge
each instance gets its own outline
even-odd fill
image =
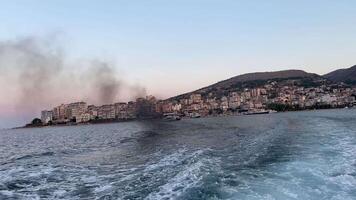
[[[10,87],[19,92],[15,100],[20,107],[36,107],[49,100],[50,88],[62,71],[62,52],[45,40],[25,38],[0,42],[0,68]]]

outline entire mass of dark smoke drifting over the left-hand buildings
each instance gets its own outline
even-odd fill
[[[40,109],[59,103],[114,103],[124,98],[122,90],[129,91],[131,98],[146,95],[144,87],[126,83],[112,64],[92,60],[88,66],[69,63],[53,37],[0,42],[0,83],[14,91],[10,95],[13,99],[6,103],[21,112],[25,109],[37,114]],[[1,95],[4,91],[0,91]],[[0,106],[1,102],[4,101]]]

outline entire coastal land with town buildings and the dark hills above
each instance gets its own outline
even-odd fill
[[[172,114],[200,117],[352,107],[356,104],[354,73],[355,66],[324,76],[302,70],[249,73],[166,100],[147,96],[101,106],[85,102],[62,104],[42,111],[41,121],[45,125],[96,123]]]

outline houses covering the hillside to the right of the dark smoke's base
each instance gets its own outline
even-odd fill
[[[294,110],[338,108],[356,104],[356,88],[343,84],[301,87],[294,84],[268,82],[260,87],[236,91],[193,93],[189,97],[165,101],[162,113],[176,112],[184,116],[233,114],[235,112],[260,112],[284,105]]]

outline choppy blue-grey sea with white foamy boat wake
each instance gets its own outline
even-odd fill
[[[356,109],[0,132],[0,199],[356,199]]]

